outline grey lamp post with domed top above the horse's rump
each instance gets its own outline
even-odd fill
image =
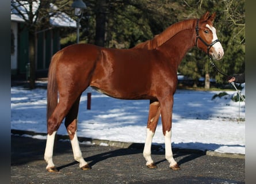
[[[75,0],[72,3],[71,7],[75,9],[75,16],[77,16],[77,43],[79,43],[79,22],[83,16],[83,9],[86,9],[86,5],[82,0]]]

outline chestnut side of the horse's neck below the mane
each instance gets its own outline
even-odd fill
[[[181,63],[182,58],[186,55],[186,52],[194,47],[194,40],[196,39],[196,30],[185,29],[177,33],[166,43],[162,44],[157,49],[167,57],[171,57],[172,60],[177,62],[177,65]]]

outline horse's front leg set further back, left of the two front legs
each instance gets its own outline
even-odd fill
[[[156,164],[151,158],[151,144],[155,133],[156,125],[160,116],[160,105],[158,101],[150,101],[150,108],[147,122],[147,135],[143,150],[143,156],[146,159],[148,168],[156,168]]]

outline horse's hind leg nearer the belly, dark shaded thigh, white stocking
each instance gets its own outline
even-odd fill
[[[85,162],[85,160],[82,157],[82,152],[80,150],[77,137],[77,116],[80,97],[77,99],[77,101],[75,101],[74,105],[68,112],[65,118],[65,126],[67,128],[68,135],[70,136],[74,159],[77,160],[77,162],[79,162],[79,167],[82,170],[89,170],[91,167],[89,166],[89,164],[87,164],[87,162]]]

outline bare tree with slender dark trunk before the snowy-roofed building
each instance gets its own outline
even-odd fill
[[[41,29],[51,29],[49,24],[49,18],[55,16],[57,11],[52,9],[50,4],[55,1],[44,0],[44,1],[11,1],[11,13],[18,14],[24,20],[25,27],[29,32],[29,64],[30,64],[30,77],[29,77],[29,87],[30,89],[35,88],[36,80],[36,56],[35,56],[35,36],[36,32]],[[67,5],[68,1],[60,1],[60,7]]]

